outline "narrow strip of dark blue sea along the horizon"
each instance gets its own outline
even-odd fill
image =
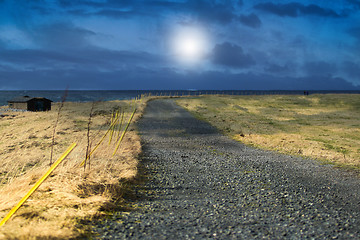
[[[44,97],[53,102],[61,102],[66,96],[67,102],[91,102],[91,101],[111,101],[129,100],[144,95],[152,96],[196,96],[204,94],[221,95],[304,95],[304,94],[329,94],[345,93],[360,94],[360,90],[355,91],[328,91],[328,90],[14,90],[0,91],[0,106],[7,105],[7,101],[19,97]]]

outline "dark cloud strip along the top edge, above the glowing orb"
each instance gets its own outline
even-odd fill
[[[101,15],[109,18],[130,18],[135,16],[158,17],[159,14],[184,13],[201,22],[227,24],[236,17],[231,0],[205,1],[189,0],[174,1],[70,1],[61,0],[60,5],[75,15]],[[86,7],[84,9],[84,7]],[[92,10],[90,10],[92,9]]]

